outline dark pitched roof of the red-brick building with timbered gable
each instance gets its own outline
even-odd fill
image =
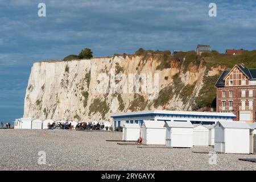
[[[234,67],[238,67],[249,80],[256,80],[256,68],[248,69],[246,68],[243,64],[236,64]],[[225,77],[228,76],[229,72],[231,70],[225,70],[224,72],[221,73],[221,76],[218,78],[215,86],[216,87],[221,87],[225,86]]]

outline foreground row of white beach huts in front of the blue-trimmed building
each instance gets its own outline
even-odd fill
[[[191,122],[144,121],[142,126],[126,123],[122,139],[143,139],[143,144],[166,147],[192,148],[214,146],[214,151],[231,154],[256,152],[256,123],[251,125],[238,121],[218,121],[214,125],[192,125]]]

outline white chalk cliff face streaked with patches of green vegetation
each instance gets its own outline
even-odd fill
[[[23,117],[103,121],[109,120],[110,114],[123,111],[196,110],[210,106],[215,97],[213,85],[224,68],[207,68],[204,60],[193,62],[171,55],[163,62],[166,60],[152,55],[125,55],[34,63]],[[102,82],[99,78],[105,73],[111,80],[113,71],[127,76],[158,73],[158,98],[150,99],[151,94],[142,93],[141,87],[138,93],[100,93],[99,86],[111,85],[111,81]],[[152,80],[147,81],[153,83],[154,77]],[[124,86],[123,81],[114,83]],[[211,92],[207,93],[209,87]]]

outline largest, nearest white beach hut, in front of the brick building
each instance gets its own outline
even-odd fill
[[[216,152],[250,153],[251,127],[246,122],[218,121],[214,130],[214,150]]]

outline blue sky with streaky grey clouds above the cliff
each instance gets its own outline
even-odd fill
[[[217,16],[210,17],[209,3]],[[38,4],[46,16],[38,16]],[[88,47],[94,56],[153,50],[256,49],[256,2],[205,0],[0,0],[0,121],[23,116],[35,61]]]

